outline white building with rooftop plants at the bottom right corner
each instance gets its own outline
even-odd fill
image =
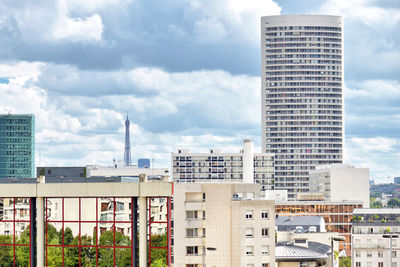
[[[355,209],[352,226],[351,266],[389,267],[393,234],[392,267],[400,266],[399,209]]]

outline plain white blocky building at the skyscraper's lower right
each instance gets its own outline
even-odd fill
[[[350,164],[327,164],[310,171],[310,191],[299,200],[362,201],[369,208],[369,169]]]

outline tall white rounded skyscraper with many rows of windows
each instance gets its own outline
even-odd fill
[[[308,191],[308,172],[343,160],[343,19],[261,18],[262,149],[275,189]]]

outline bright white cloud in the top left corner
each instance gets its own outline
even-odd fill
[[[99,14],[72,16],[66,0],[4,4],[0,6],[0,16],[3,27],[18,32],[30,45],[58,41],[98,42],[104,28]]]

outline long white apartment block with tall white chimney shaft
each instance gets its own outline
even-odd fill
[[[179,149],[171,155],[174,182],[230,182],[261,184],[262,190],[274,189],[274,155],[254,153],[253,142],[245,139],[239,153],[190,153]]]

